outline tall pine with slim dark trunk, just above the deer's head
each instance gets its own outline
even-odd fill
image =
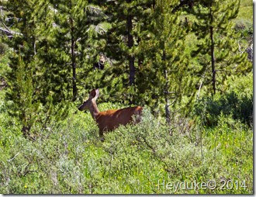
[[[50,70],[59,73],[56,80],[57,85],[63,85],[61,92],[67,91],[64,98],[72,97],[75,101],[78,88],[88,88],[93,84],[92,64],[100,52],[97,47],[100,48],[102,41],[97,37],[101,29],[97,25],[102,19],[102,12],[83,0],[50,2],[54,8],[55,26],[52,30],[53,40],[49,42]]]

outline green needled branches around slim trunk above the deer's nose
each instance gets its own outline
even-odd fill
[[[60,99],[75,101],[78,90],[85,86],[81,84],[88,80],[85,75],[90,71],[88,57],[95,54],[88,46],[99,42],[92,40],[92,24],[89,22],[92,16],[89,16],[87,1],[51,0],[50,4],[54,9],[51,12],[54,28],[50,26],[51,37],[47,40],[51,57],[44,57],[44,63],[50,64],[47,76],[54,82],[49,88],[53,88],[57,96],[63,95]]]

